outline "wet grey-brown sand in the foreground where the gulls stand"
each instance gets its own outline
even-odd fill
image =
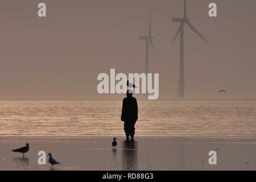
[[[30,143],[22,154],[12,149]],[[38,164],[38,151],[51,152],[60,165],[53,170],[255,170],[256,139],[135,138],[0,138],[0,170],[50,170]],[[217,165],[209,165],[209,151]],[[48,159],[48,158],[47,158]]]

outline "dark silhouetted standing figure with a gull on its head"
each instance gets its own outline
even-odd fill
[[[131,142],[134,142],[135,128],[134,125],[138,119],[138,104],[136,98],[133,97],[133,92],[127,90],[126,98],[123,99],[121,120],[125,122],[124,130],[126,134],[126,141],[129,142],[129,135]]]

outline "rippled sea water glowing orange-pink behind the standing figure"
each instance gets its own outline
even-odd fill
[[[256,100],[138,100],[141,137],[256,138]],[[1,137],[123,135],[122,100],[0,100]]]

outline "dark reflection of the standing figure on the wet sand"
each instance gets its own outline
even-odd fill
[[[138,143],[135,142],[123,142],[122,150],[122,166],[125,171],[137,170],[138,160]]]

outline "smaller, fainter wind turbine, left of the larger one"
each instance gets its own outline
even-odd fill
[[[148,66],[149,66],[149,55],[148,55],[148,49],[151,46],[154,54],[156,56],[155,53],[155,47],[154,44],[152,42],[152,39],[154,37],[152,36],[152,31],[151,31],[151,7],[150,7],[150,1],[149,1],[149,28],[148,28],[148,36],[140,36],[139,39],[141,40],[146,40],[146,74],[148,73]]]

